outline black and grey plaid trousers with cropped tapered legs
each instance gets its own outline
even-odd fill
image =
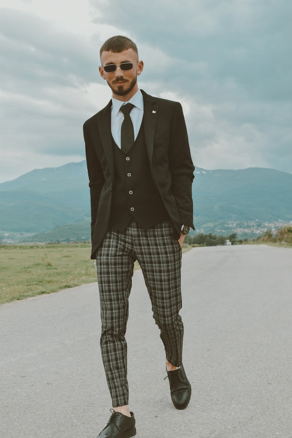
[[[126,325],[128,298],[137,259],[151,299],[153,318],[160,329],[166,359],[182,362],[183,321],[180,291],[181,248],[172,237],[170,221],[147,230],[134,219],[126,230],[109,228],[96,254],[102,334],[100,346],[113,407],[127,405]]]

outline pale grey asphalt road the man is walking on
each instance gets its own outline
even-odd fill
[[[136,437],[291,438],[292,250],[193,248],[182,274],[192,397],[179,411],[142,272],[134,273],[126,339]],[[1,437],[95,438],[111,408],[97,283],[4,304],[0,318]]]

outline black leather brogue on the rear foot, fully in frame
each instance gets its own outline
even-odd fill
[[[167,376],[164,380],[167,377],[169,378],[170,396],[173,405],[176,409],[185,409],[189,404],[192,389],[190,387],[190,382],[186,377],[183,364],[180,365],[178,370],[167,371],[166,369],[166,372]]]

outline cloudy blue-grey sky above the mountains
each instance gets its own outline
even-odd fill
[[[182,103],[195,166],[292,173],[291,0],[1,3],[1,181],[85,158],[112,35],[137,43],[140,88]]]

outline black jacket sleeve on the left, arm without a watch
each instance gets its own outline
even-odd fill
[[[85,154],[89,178],[90,187],[90,205],[91,205],[91,243],[93,240],[93,232],[95,222],[97,218],[97,212],[99,209],[99,198],[102,191],[102,187],[105,183],[105,177],[103,175],[102,166],[93,148],[91,140],[89,138],[85,123],[83,125],[83,135],[85,141]]]

